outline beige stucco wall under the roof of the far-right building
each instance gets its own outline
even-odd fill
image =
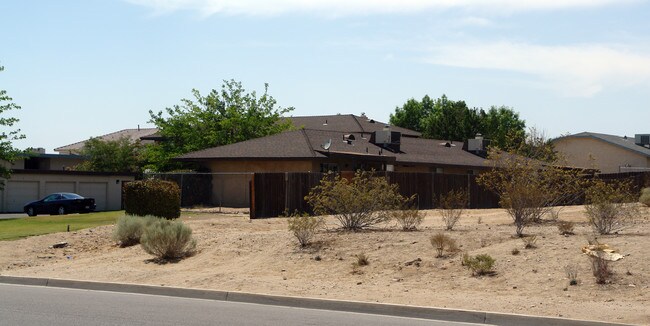
[[[649,158],[593,138],[562,138],[553,144],[570,166],[595,168],[601,173],[618,173],[620,166],[628,164],[633,167],[650,167]]]

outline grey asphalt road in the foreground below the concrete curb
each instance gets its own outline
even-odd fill
[[[476,325],[132,293],[0,284],[0,325]]]

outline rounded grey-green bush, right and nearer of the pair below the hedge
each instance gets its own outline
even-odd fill
[[[196,240],[182,222],[158,219],[145,228],[140,245],[159,259],[178,259],[194,253]]]

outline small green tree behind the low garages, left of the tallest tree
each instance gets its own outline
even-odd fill
[[[88,160],[75,167],[80,171],[138,173],[143,165],[140,142],[132,142],[127,137],[108,141],[91,138],[86,141],[81,155]]]

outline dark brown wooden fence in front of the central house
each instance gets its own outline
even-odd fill
[[[320,183],[323,173],[255,173],[251,180],[251,218],[279,216],[285,211],[311,212],[305,196]],[[419,209],[435,208],[441,194],[451,190],[467,190],[470,208],[495,208],[499,198],[476,183],[475,175],[378,172],[397,184],[403,196],[416,196]],[[352,172],[342,177],[351,178]]]

